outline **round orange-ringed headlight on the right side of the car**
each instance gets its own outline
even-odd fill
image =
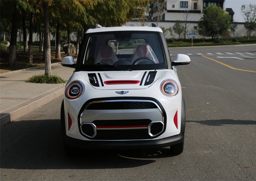
[[[174,80],[167,79],[161,84],[161,92],[166,96],[173,97],[178,94],[179,87]]]

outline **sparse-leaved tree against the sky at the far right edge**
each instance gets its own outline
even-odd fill
[[[248,39],[251,33],[256,30],[256,4],[242,5],[241,12],[243,14],[245,23],[244,27],[247,30]]]

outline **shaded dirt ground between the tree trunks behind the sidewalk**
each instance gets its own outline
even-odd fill
[[[61,57],[67,56],[66,53],[61,53]],[[71,54],[71,56],[77,58],[75,54]],[[17,51],[16,53],[16,66],[8,65],[9,59],[9,50],[3,50],[0,52],[0,73],[10,72],[13,70],[26,69],[30,67],[42,66],[45,64],[45,60],[43,60],[43,52],[33,52],[33,64],[29,64],[27,62],[28,53]],[[55,58],[55,53],[51,53],[51,62],[60,62],[61,59]]]

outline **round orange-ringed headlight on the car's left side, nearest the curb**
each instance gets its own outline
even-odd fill
[[[82,83],[79,81],[71,82],[65,91],[66,97],[69,99],[75,99],[79,97],[83,92],[83,86]]]

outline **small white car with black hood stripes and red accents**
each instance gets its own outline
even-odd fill
[[[61,105],[65,150],[184,147],[185,102],[173,66],[190,63],[177,54],[171,61],[157,27],[109,27],[87,30],[75,71]]]

